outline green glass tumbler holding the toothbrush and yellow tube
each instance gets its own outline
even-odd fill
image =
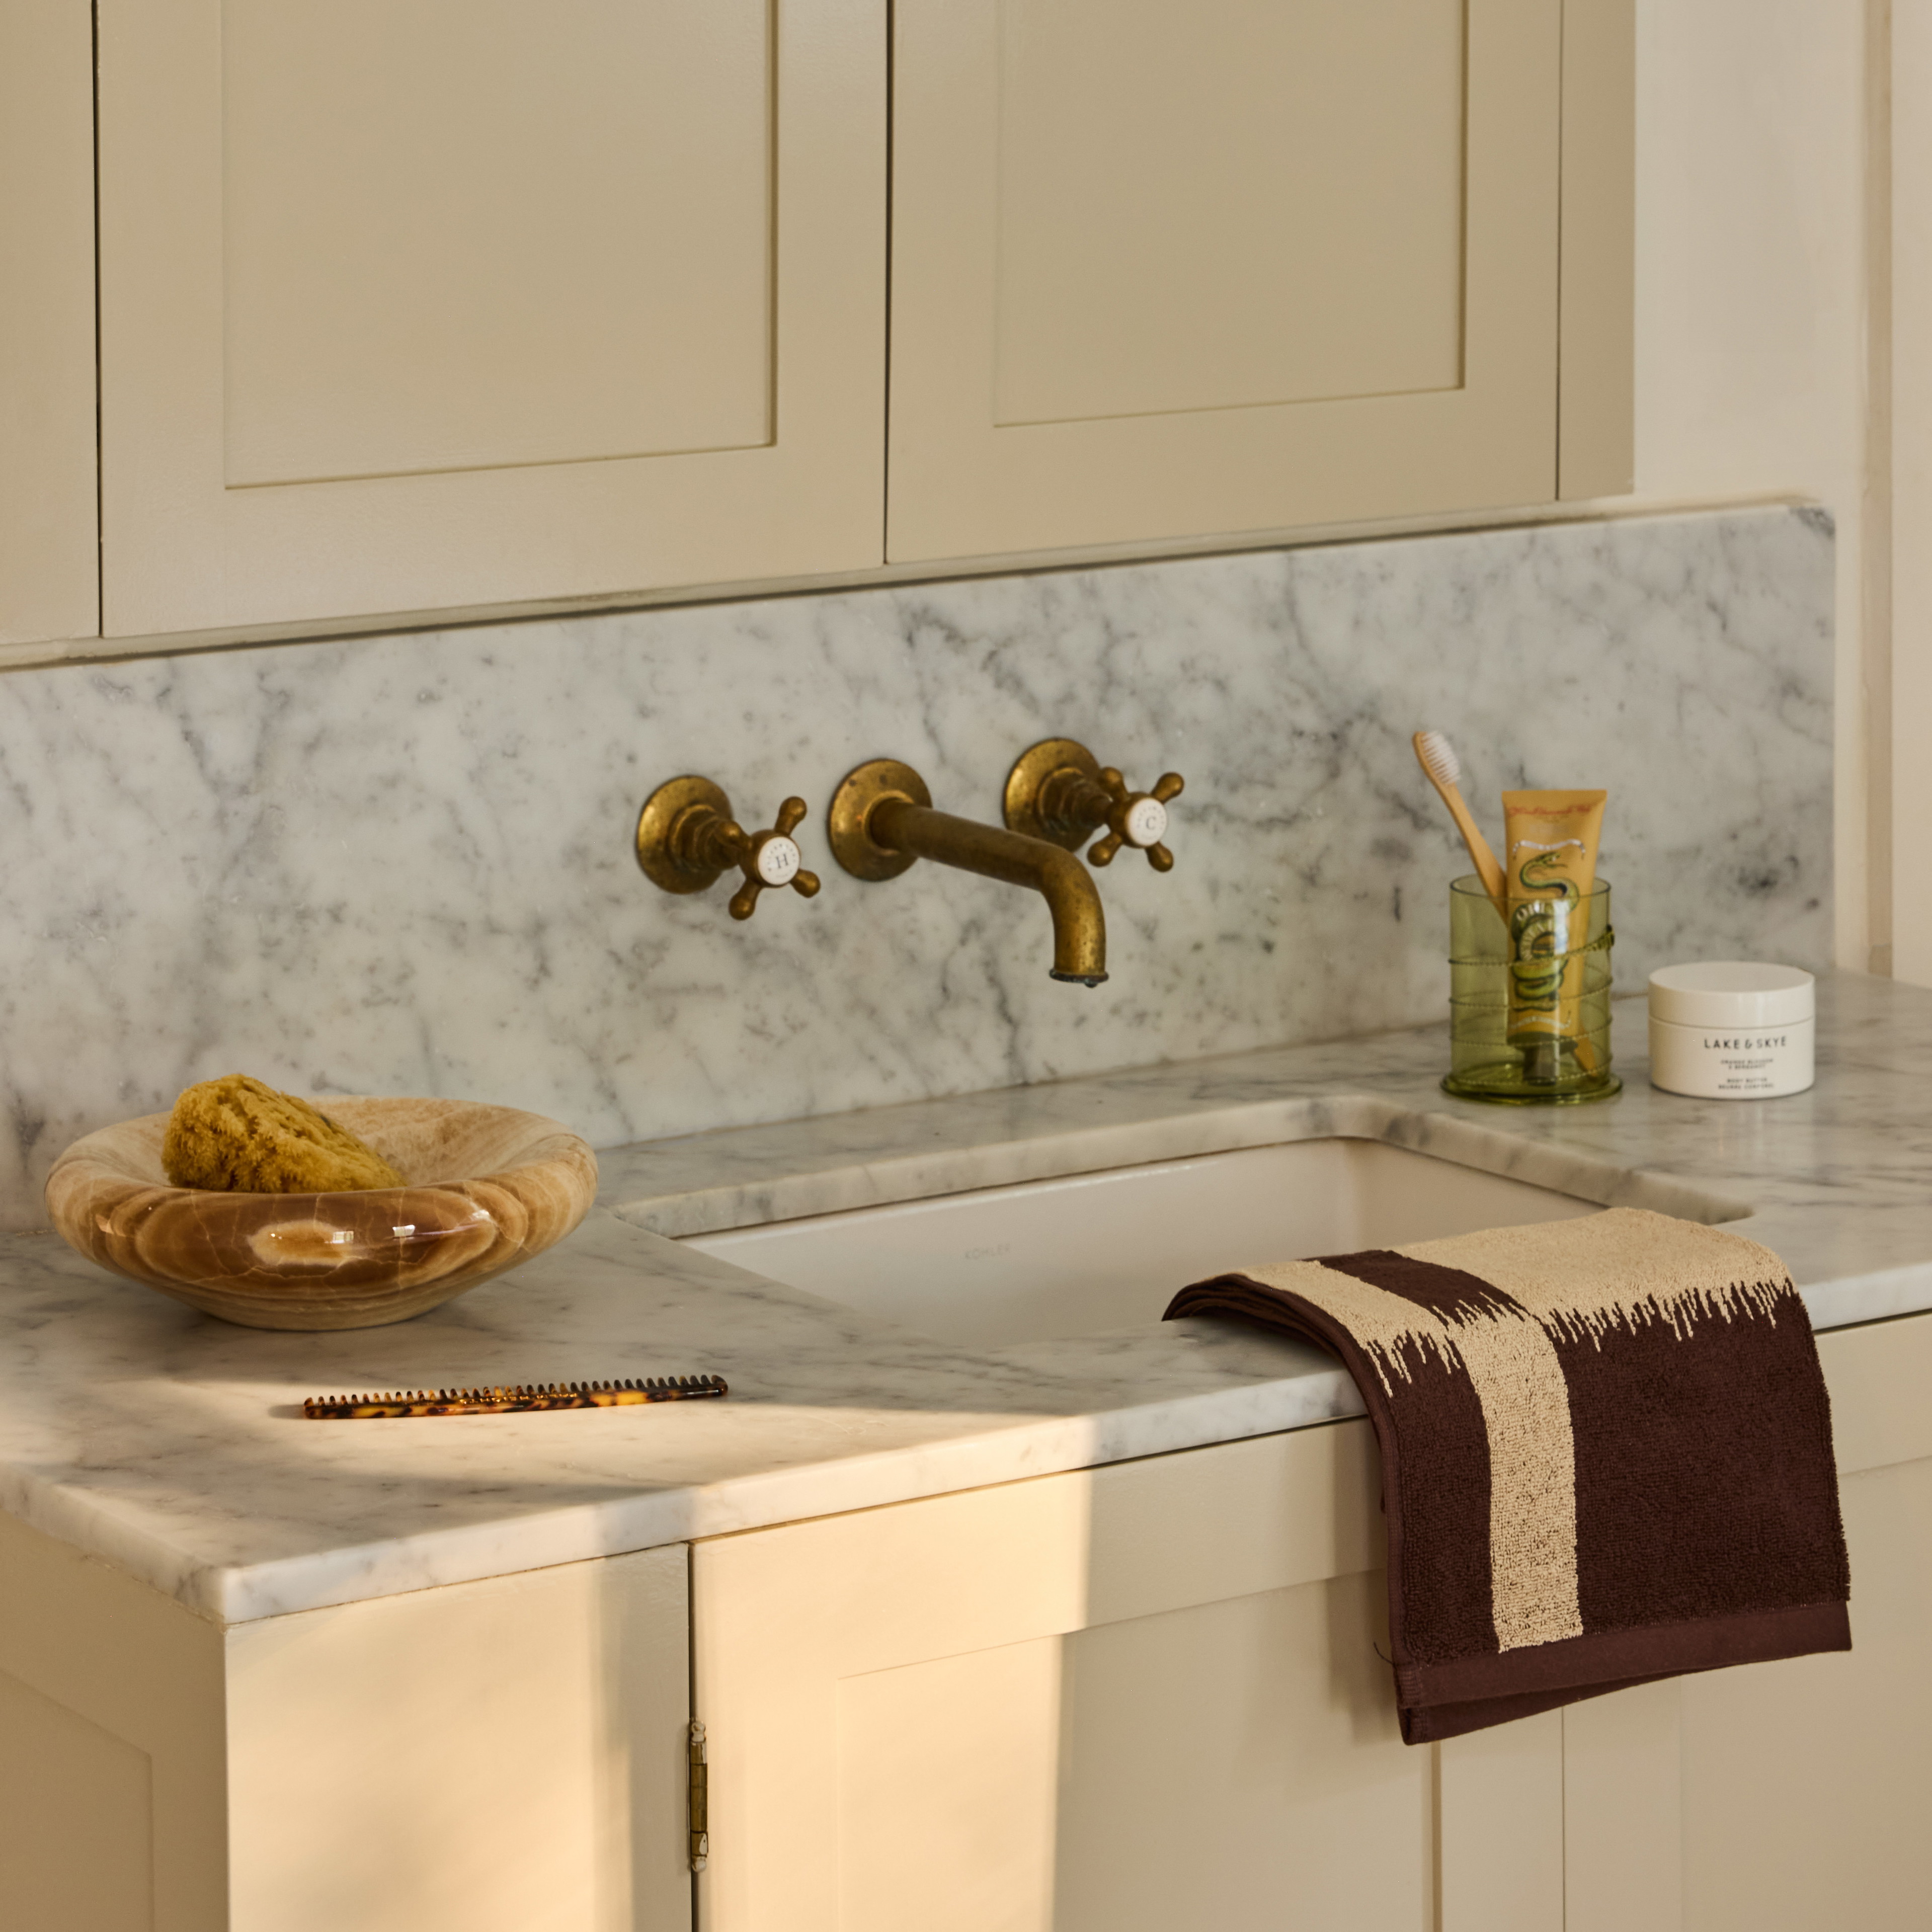
[[[1505,923],[1474,875],[1449,887],[1443,1092],[1505,1107],[1609,1099],[1609,885],[1530,898]]]

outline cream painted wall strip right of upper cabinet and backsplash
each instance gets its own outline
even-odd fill
[[[1837,956],[1862,970],[1886,937],[1866,825],[1866,0],[1638,0],[1636,21],[1636,491],[1803,493],[1837,518]]]

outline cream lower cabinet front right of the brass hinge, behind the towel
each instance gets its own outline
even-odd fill
[[[1364,1422],[694,1546],[705,1932],[1918,1932],[1932,1316],[1826,1335],[1849,1656],[1395,1729]]]

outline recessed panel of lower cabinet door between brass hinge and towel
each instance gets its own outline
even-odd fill
[[[840,1932],[1432,1922],[1376,1573],[838,1687]]]

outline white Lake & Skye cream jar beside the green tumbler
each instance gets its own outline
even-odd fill
[[[1797,966],[1710,960],[1650,976],[1650,1084],[1770,1099],[1812,1084],[1816,987]]]

